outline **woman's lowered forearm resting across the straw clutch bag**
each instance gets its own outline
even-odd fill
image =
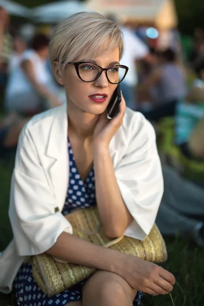
[[[124,254],[62,233],[48,254],[69,263],[118,273]]]

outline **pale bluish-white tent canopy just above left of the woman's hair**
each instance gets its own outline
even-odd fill
[[[89,11],[89,9],[79,1],[61,1],[34,8],[32,16],[38,22],[55,23],[82,11]]]

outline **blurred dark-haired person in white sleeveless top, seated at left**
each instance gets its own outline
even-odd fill
[[[45,66],[48,44],[46,36],[36,35],[31,49],[23,53],[19,64],[12,71],[5,93],[8,111],[30,116],[60,105],[52,75]]]

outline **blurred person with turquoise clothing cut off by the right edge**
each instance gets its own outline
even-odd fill
[[[185,102],[176,107],[175,143],[187,158],[204,161],[204,61],[196,72],[199,79],[194,81]]]

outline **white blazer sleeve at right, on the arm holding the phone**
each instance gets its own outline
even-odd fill
[[[134,218],[124,235],[144,240],[160,206],[163,176],[154,128],[140,113],[134,119],[125,155],[115,173],[125,205]]]

